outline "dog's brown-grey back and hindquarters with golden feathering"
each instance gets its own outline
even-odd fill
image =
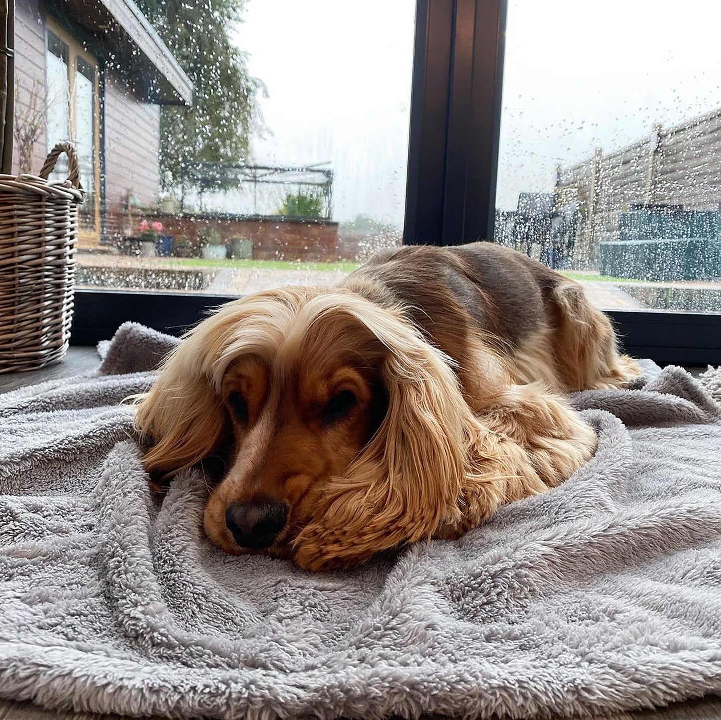
[[[461,368],[472,365],[482,339],[519,382],[576,390],[619,386],[638,374],[619,358],[609,320],[578,283],[490,242],[381,252],[342,284],[382,306],[407,308]]]

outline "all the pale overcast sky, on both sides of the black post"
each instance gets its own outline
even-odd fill
[[[273,135],[255,160],[331,161],[335,219],[402,226],[415,2],[249,0],[236,33]],[[510,0],[497,205],[721,107],[721,1]]]

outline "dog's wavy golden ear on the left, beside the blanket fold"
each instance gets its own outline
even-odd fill
[[[221,398],[203,370],[203,333],[191,334],[165,360],[150,391],[135,399],[135,425],[152,443],[143,458],[151,474],[170,476],[213,453],[226,434]]]

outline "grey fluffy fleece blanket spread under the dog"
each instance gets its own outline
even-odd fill
[[[227,556],[118,406],[169,339],[0,396],[0,696],[219,718],[562,717],[721,691],[721,408],[666,368],[574,396],[596,456],[460,541],[352,572]],[[118,374],[127,373],[127,374]]]

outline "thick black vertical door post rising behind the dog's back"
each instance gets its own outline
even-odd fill
[[[506,0],[418,0],[404,242],[493,238]]]

